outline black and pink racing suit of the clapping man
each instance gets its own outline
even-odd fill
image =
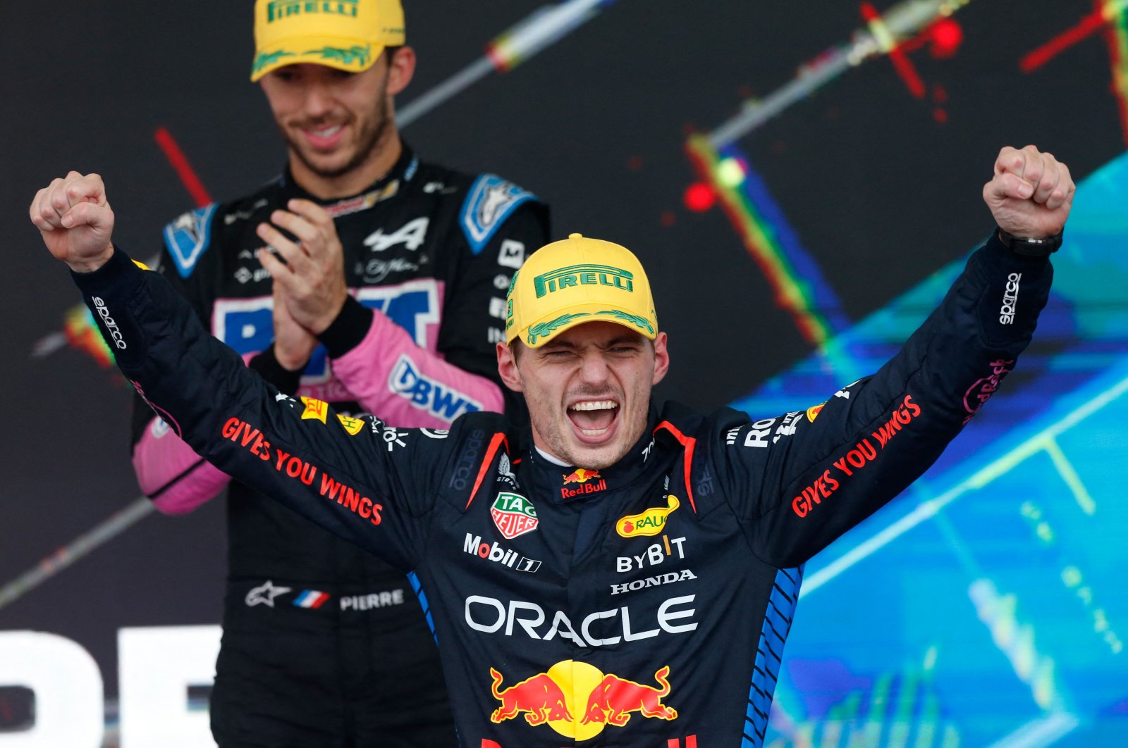
[[[334,219],[352,294],[337,327],[356,341],[344,356],[319,347],[300,379],[273,358],[273,282],[256,255],[256,226],[292,198]],[[443,428],[465,411],[502,409],[494,344],[504,340],[505,290],[526,252],[547,242],[547,220],[517,185],[421,161],[405,146],[358,195],[319,201],[285,172],[179,216],[165,229],[159,271],[217,339],[288,394]],[[455,743],[439,654],[400,571],[231,481],[140,399],[133,464],[167,514],[228,489],[210,701],[222,748]]]

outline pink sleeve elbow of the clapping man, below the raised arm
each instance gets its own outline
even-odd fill
[[[187,514],[219,496],[231,478],[192,451],[165,422],[153,418],[133,446],[133,470],[141,491],[162,514]]]

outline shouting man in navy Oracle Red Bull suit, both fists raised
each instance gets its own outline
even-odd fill
[[[669,354],[642,266],[573,234],[509,290],[497,365],[531,427],[469,413],[443,433],[263,384],[114,248],[97,176],[56,179],[30,215],[188,444],[414,571],[464,745],[759,746],[803,563],[927,469],[969,385],[1013,367],[1073,193],[1051,155],[1003,149],[984,187],[998,230],[897,356],[760,420],[652,408]],[[328,314],[287,308],[347,353]]]

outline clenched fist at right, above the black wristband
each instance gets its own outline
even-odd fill
[[[1003,231],[1021,239],[1061,233],[1076,186],[1069,169],[1033,145],[1004,148],[995,177],[984,185],[984,201]]]

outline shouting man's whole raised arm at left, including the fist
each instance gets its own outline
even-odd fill
[[[199,454],[315,523],[409,570],[425,532],[443,440],[376,419],[338,418],[249,371],[203,330],[187,302],[111,243],[102,179],[71,172],[39,190],[32,221],[114,346],[118,366]],[[426,469],[423,469],[426,465]]]

